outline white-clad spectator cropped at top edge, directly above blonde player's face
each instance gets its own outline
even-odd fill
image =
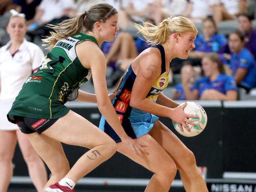
[[[213,16],[215,6],[217,5],[218,0],[189,0],[183,16],[193,22],[200,23],[204,18]]]

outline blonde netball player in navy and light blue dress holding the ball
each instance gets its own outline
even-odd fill
[[[129,66],[112,104],[126,133],[136,142],[145,143],[147,153],[134,153],[127,148],[104,117],[100,129],[117,142],[120,153],[154,173],[146,192],[169,191],[177,169],[186,191],[206,192],[194,154],[156,116],[178,122],[182,130],[182,126],[189,130],[187,124],[195,126],[187,118],[197,117],[183,111],[186,103],[178,106],[161,91],[169,82],[170,61],[174,57],[187,59],[189,51],[195,48],[197,29],[185,17],[167,18],[158,26],[144,23],[136,27],[153,46],[139,54]]]

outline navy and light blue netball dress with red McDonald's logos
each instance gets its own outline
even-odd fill
[[[150,91],[147,94],[147,98],[152,102],[156,102],[160,92],[167,87],[169,83],[169,73],[167,74],[165,69],[165,51],[162,45],[152,46],[158,48],[161,53],[161,75],[155,80]],[[158,117],[135,109],[129,105],[132,87],[134,85],[136,75],[132,70],[132,65],[124,74],[122,81],[117,88],[121,90],[113,99],[112,104],[117,112],[117,116],[124,127],[124,131],[131,138],[138,138],[147,134],[153,127],[154,122],[158,120]],[[100,120],[100,129],[107,133],[116,142],[121,142],[121,138],[115,133],[108,122],[106,122],[104,116]]]

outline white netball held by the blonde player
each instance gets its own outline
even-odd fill
[[[182,104],[184,104],[184,103],[182,103]],[[182,105],[182,104],[180,104],[180,105]],[[191,120],[197,126],[193,127],[190,124],[188,124],[187,126],[189,127],[190,131],[187,131],[187,129],[185,129],[185,127],[183,127],[184,132],[182,132],[180,130],[180,127],[178,126],[178,124],[173,122],[173,126],[176,129],[176,131],[178,131],[178,133],[180,133],[181,135],[183,135],[185,137],[194,137],[194,136],[198,135],[199,133],[201,133],[207,124],[207,114],[204,111],[204,109],[198,103],[187,102],[186,107],[184,107],[184,112],[187,114],[195,114],[196,116],[199,117],[197,119],[189,118],[189,120]]]

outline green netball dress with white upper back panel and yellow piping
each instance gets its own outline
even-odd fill
[[[37,72],[23,84],[7,114],[9,121],[15,123],[14,116],[56,119],[69,112],[64,103],[75,100],[80,85],[91,77],[91,70],[83,67],[76,55],[76,44],[81,41],[97,44],[94,37],[84,33],[56,43]]]

